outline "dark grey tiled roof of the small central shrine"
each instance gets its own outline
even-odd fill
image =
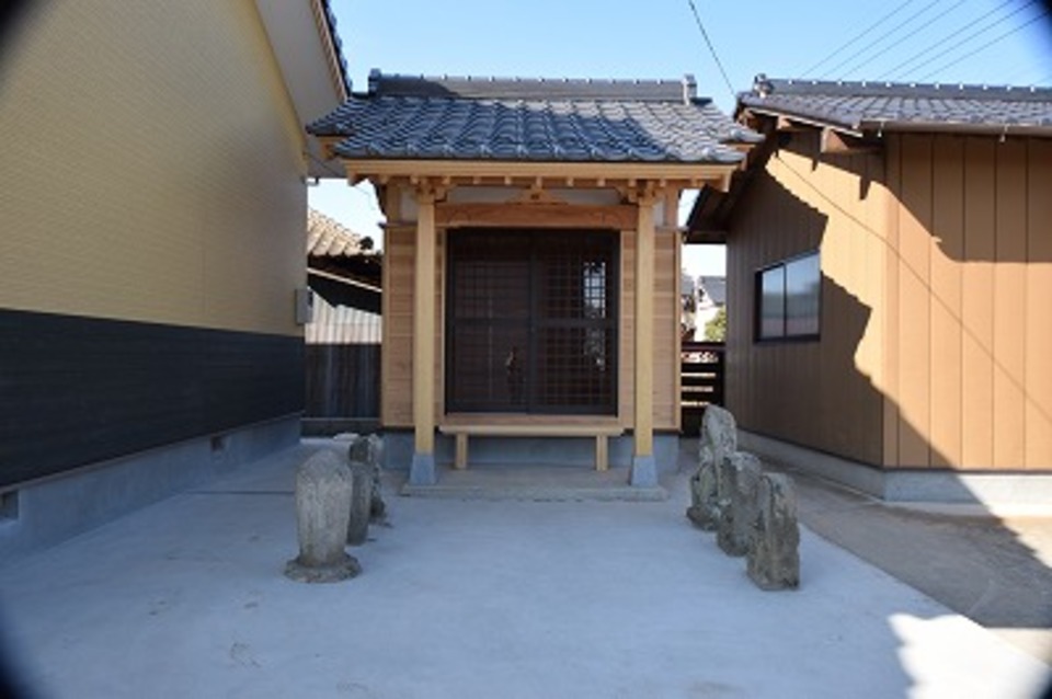
[[[735,163],[761,140],[694,80],[385,76],[308,126],[352,159]]]

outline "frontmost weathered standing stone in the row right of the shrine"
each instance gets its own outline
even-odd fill
[[[747,572],[761,589],[800,585],[800,527],[792,479],[764,473],[757,490],[758,516],[750,536]]]

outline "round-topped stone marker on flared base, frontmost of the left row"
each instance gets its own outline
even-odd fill
[[[362,572],[344,546],[351,518],[351,468],[322,450],[296,469],[296,530],[299,555],[285,575],[304,583],[334,583]]]

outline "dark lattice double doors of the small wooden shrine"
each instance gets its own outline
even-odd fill
[[[615,414],[618,240],[449,231],[446,410]]]

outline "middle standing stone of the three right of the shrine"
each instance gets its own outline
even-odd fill
[[[728,555],[745,555],[757,516],[759,459],[745,451],[723,457],[719,473],[719,524],[716,542]]]

